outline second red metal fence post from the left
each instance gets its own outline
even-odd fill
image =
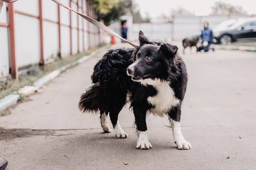
[[[40,63],[44,64],[44,35],[43,35],[43,11],[42,0],[39,0],[39,26],[40,26]]]

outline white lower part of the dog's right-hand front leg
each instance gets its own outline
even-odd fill
[[[171,119],[171,124],[172,124],[172,134],[174,137],[174,142],[176,142],[176,146],[178,149],[191,149],[191,144],[187,142],[180,129],[180,122],[176,122]]]

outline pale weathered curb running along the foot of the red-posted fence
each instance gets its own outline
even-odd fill
[[[76,66],[80,63],[83,63],[84,61],[92,58],[95,54],[99,53],[99,51],[101,51],[105,47],[106,46],[101,47],[100,49],[97,49],[96,51],[93,51],[92,53],[90,53],[90,55],[86,55],[84,57],[81,57],[77,61],[74,61],[73,63],[64,65],[63,67],[60,67],[60,68],[48,73],[47,75],[44,75],[43,77],[37,79],[33,83],[33,86],[27,86],[27,87],[30,87],[30,90],[22,90],[22,89],[24,89],[24,87],[22,87],[21,89],[18,90],[19,94],[10,94],[10,95],[7,95],[6,97],[0,99],[0,112],[4,111],[8,107],[16,104],[18,102],[18,99],[20,99],[20,95],[25,95],[25,96],[31,95],[38,88],[42,87],[44,84],[48,83],[52,79],[58,77],[58,75],[60,75],[60,73],[66,71],[70,67],[74,67],[74,66]],[[33,88],[34,88],[34,90],[31,90]]]

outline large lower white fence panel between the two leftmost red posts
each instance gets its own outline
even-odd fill
[[[15,14],[15,44],[18,67],[40,61],[40,33],[37,18]]]

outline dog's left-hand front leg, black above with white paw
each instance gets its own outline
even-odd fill
[[[138,132],[138,141],[136,144],[136,148],[140,148],[140,149],[152,148],[151,143],[148,141],[146,109],[139,106],[133,106],[133,112],[134,112],[137,132]]]

